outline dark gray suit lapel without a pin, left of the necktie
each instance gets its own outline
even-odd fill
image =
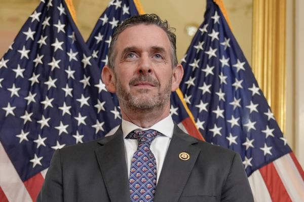
[[[95,154],[111,201],[129,201],[129,179],[121,127],[114,135],[98,143],[102,146],[95,150]]]

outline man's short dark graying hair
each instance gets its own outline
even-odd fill
[[[171,62],[172,67],[177,65],[177,56],[176,56],[176,35],[174,34],[175,28],[170,27],[167,20],[163,21],[156,14],[144,14],[136,15],[126,19],[122,24],[118,25],[115,32],[112,35],[112,40],[109,47],[108,53],[108,66],[110,68],[114,67],[114,58],[115,58],[115,44],[120,33],[122,33],[126,28],[134,25],[145,24],[145,25],[157,25],[162,28],[166,33],[171,45]]]

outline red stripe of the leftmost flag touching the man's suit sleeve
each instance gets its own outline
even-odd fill
[[[24,182],[24,186],[27,189],[30,197],[33,201],[36,201],[37,196],[42,188],[44,178],[41,173],[34,175]]]

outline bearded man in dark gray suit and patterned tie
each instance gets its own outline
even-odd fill
[[[173,123],[170,94],[183,75],[175,41],[154,14],[117,28],[102,80],[118,96],[122,125],[56,150],[38,201],[253,201],[237,153]]]

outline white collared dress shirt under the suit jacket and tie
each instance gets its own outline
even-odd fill
[[[148,129],[153,129],[163,134],[161,136],[157,136],[151,142],[151,146],[150,146],[150,150],[152,151],[156,159],[157,182],[158,182],[159,176],[163,168],[164,159],[169,147],[169,143],[173,135],[174,123],[171,115],[169,114],[166,118],[162,119],[160,122],[156,123],[155,125],[151,126]],[[128,122],[127,120],[124,119],[122,120],[122,130],[124,134],[126,161],[127,161],[129,176],[131,169],[131,160],[133,154],[137,150],[138,141],[136,139],[126,138],[126,136],[134,130],[148,130],[148,129],[140,128],[135,124]]]

